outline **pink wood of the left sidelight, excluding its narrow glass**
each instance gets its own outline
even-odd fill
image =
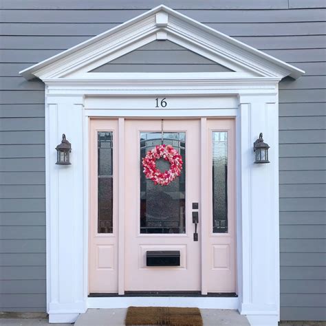
[[[113,131],[113,233],[98,233],[98,131]],[[118,120],[89,123],[89,293],[118,292]]]

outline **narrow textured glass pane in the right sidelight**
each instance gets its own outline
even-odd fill
[[[213,232],[228,232],[228,133],[213,131]]]

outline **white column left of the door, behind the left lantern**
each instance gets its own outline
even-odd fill
[[[73,323],[85,312],[83,98],[47,98],[47,312],[50,323]],[[56,165],[62,134],[72,165]],[[87,241],[86,241],[87,242]]]

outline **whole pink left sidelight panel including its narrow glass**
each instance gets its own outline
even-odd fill
[[[89,292],[118,292],[118,121],[89,123]]]

